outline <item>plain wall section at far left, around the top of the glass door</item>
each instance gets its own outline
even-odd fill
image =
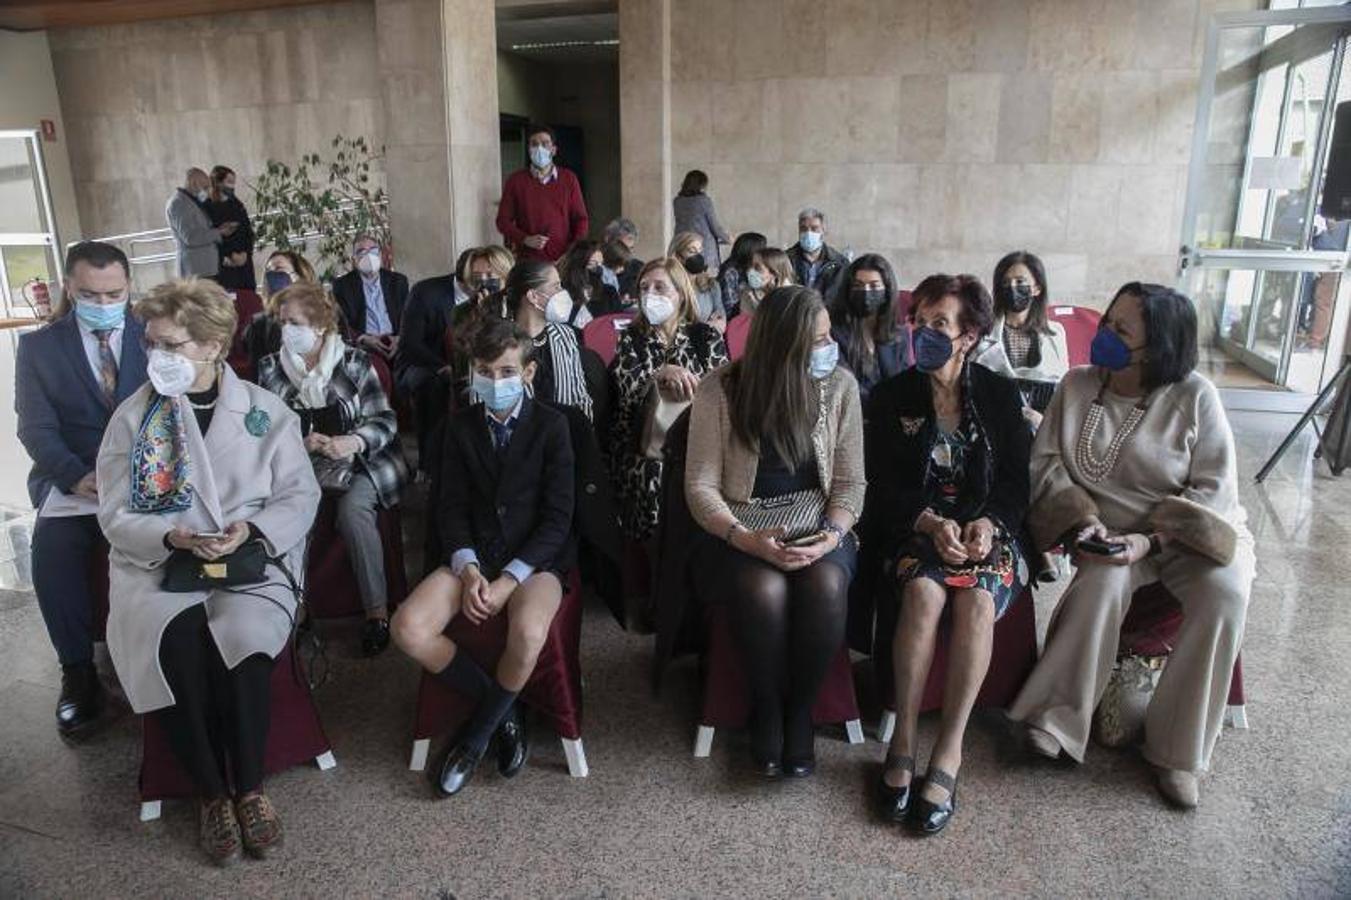
[[[62,242],[78,241],[80,209],[70,177],[70,134],[61,115],[47,32],[0,31],[0,128],[36,128],[43,119],[57,123],[57,139],[42,145],[57,230]]]

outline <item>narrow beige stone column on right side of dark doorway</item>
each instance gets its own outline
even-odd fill
[[[671,236],[671,0],[619,4],[619,130],[623,214],[638,224],[638,257]],[[594,223],[594,231],[604,222]]]

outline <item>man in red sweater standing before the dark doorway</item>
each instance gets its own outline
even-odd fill
[[[554,165],[553,128],[531,126],[526,142],[530,166],[503,185],[497,230],[517,259],[553,262],[586,236],[590,218],[577,176]]]

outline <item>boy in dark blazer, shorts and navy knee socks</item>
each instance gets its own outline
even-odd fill
[[[400,649],[477,701],[439,768],[447,797],[469,784],[494,735],[497,770],[509,778],[524,765],[516,695],[535,670],[574,562],[567,419],[527,395],[531,351],[530,335],[511,320],[488,320],[476,334],[478,403],[446,423],[438,509],[447,565],[394,614]],[[507,650],[489,677],[443,632],[457,615],[481,626],[503,611]]]

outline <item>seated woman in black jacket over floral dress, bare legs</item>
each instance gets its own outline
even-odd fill
[[[1013,381],[969,362],[993,303],[973,276],[915,288],[915,366],[873,391],[869,499],[873,539],[894,578],[896,732],[878,785],[884,814],[920,834],[957,808],[962,735],[990,664],[994,622],[1023,593],[1023,519],[1032,432]],[[944,611],[951,618],[943,719],[913,792],[916,728]]]

